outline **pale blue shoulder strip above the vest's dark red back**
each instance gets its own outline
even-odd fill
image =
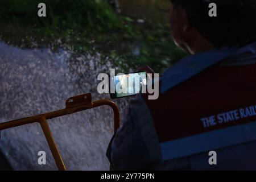
[[[163,73],[163,77],[161,78],[161,93],[166,92],[177,84],[197,75],[204,71],[204,69],[207,69],[222,60],[243,55],[247,52],[250,52],[255,56],[256,43],[242,48],[238,48],[238,46],[222,47],[220,49],[212,49],[207,52],[200,52],[195,55],[184,57],[184,59],[172,65],[172,67],[168,68],[167,71]]]

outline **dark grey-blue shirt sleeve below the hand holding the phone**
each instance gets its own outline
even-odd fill
[[[131,100],[126,121],[113,136],[107,155],[115,170],[152,169],[160,161],[158,135],[141,95]]]

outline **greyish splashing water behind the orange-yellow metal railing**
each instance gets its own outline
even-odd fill
[[[67,98],[97,94],[97,75],[109,72],[111,61],[100,54],[50,49],[20,49],[0,42],[0,122],[63,109]],[[117,69],[117,68],[115,68]],[[125,115],[127,99],[118,100]],[[105,170],[105,152],[113,134],[113,112],[108,106],[48,120],[57,146],[69,170]],[[38,123],[1,131],[0,150],[16,170],[57,169]],[[38,152],[46,151],[46,165],[38,164]]]

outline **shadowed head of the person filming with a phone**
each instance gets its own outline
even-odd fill
[[[171,0],[171,33],[189,53],[256,42],[256,0]],[[217,17],[209,16],[216,3]]]

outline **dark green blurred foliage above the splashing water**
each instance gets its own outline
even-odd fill
[[[38,17],[38,3],[47,17]],[[0,34],[6,42],[31,47],[52,44],[78,52],[102,53],[123,71],[150,65],[156,72],[181,59],[184,53],[170,37],[167,25],[116,14],[104,0],[0,1]]]

